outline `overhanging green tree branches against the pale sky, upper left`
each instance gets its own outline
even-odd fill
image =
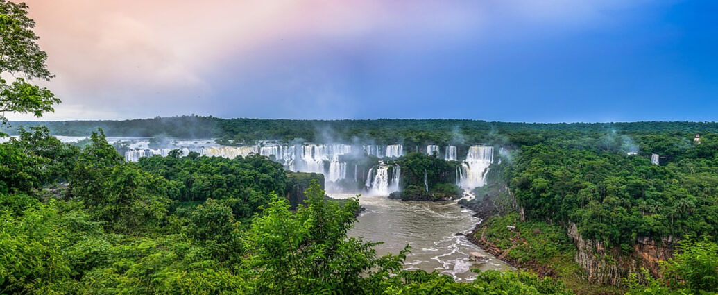
[[[35,22],[27,17],[27,8],[24,3],[0,0],[0,75],[17,77],[11,83],[0,78],[0,126],[7,123],[5,112],[40,117],[55,111],[52,105],[60,103],[47,88],[26,82],[54,77],[45,65],[47,53],[37,45],[39,37],[32,32]]]

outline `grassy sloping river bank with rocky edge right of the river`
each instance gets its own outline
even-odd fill
[[[559,224],[522,220],[505,186],[485,187],[463,206],[480,217],[467,239],[497,259],[539,277],[560,279],[577,294],[623,294],[617,286],[586,281],[574,261],[577,249]],[[489,192],[489,193],[486,193]]]

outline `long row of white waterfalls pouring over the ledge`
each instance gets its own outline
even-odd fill
[[[174,141],[163,148],[150,149],[147,139],[140,139],[131,141],[128,147],[124,153],[126,161],[139,161],[144,156],[168,156],[174,149],[178,149],[181,156],[192,152],[200,156],[226,158],[259,154],[283,164],[292,172],[324,174],[327,191],[337,191],[338,184],[341,183],[355,187],[356,192],[371,192],[374,195],[388,195],[401,190],[401,166],[393,164],[392,160],[405,155],[404,146],[401,144],[279,144],[275,141],[263,141],[251,146],[221,146],[213,140],[183,140]],[[419,150],[418,147],[416,150]],[[457,161],[459,158],[457,146],[444,146],[442,149],[438,145],[427,145],[423,151],[428,155],[437,154],[440,159],[446,161]],[[464,161],[457,163],[456,184],[465,190],[465,198],[471,199],[472,189],[484,184],[486,172],[493,163],[493,146],[469,146],[466,153]],[[361,169],[356,161],[351,161],[368,156],[383,160],[373,167]],[[384,164],[386,161],[388,164]],[[424,187],[428,192],[429,184],[425,182]]]

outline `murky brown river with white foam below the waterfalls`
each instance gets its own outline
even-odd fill
[[[327,195],[342,199],[355,196]],[[362,195],[359,203],[366,210],[359,215],[358,223],[349,235],[364,237],[366,241],[382,241],[383,244],[375,247],[379,256],[398,253],[407,244],[411,245],[411,254],[404,263],[406,269],[437,270],[454,276],[457,281],[472,281],[476,274],[470,271],[471,268],[482,271],[513,269],[472,244],[464,235],[456,235],[469,233],[480,220],[455,201],[414,202]],[[482,253],[489,260],[474,263],[469,260],[471,252]]]

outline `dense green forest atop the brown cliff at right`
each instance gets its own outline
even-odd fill
[[[507,178],[528,217],[573,221],[584,238],[624,250],[638,237],[718,235],[718,141],[713,136],[661,166],[647,156],[572,149],[569,143],[524,146],[516,156]]]

